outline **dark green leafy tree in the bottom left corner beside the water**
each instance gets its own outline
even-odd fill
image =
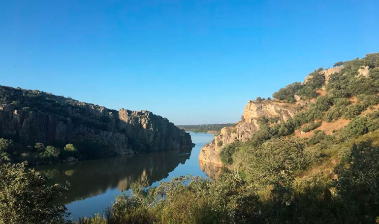
[[[26,162],[0,165],[0,224],[59,224],[64,223],[64,205],[52,201],[67,191],[69,184],[46,185]]]

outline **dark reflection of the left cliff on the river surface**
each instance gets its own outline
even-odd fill
[[[70,203],[118,188],[126,191],[137,180],[148,180],[149,185],[164,179],[179,163],[190,157],[190,150],[121,156],[103,160],[87,160],[74,164],[55,164],[36,167],[47,173],[51,184],[68,181],[72,190],[59,202]]]

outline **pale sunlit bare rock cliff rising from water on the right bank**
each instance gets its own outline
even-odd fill
[[[214,140],[204,145],[200,151],[200,166],[204,166],[204,162],[210,162],[221,166],[220,160],[221,149],[236,140],[247,141],[252,138],[259,126],[259,119],[265,117],[267,119],[276,119],[278,122],[285,122],[289,118],[295,116],[298,110],[297,104],[287,104],[272,100],[256,101],[250,100],[245,106],[243,118],[245,121],[237,123],[236,126],[221,129],[221,134],[215,135]]]

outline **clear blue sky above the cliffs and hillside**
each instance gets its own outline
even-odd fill
[[[177,125],[236,122],[318,67],[379,52],[378,0],[1,0],[0,85]]]

